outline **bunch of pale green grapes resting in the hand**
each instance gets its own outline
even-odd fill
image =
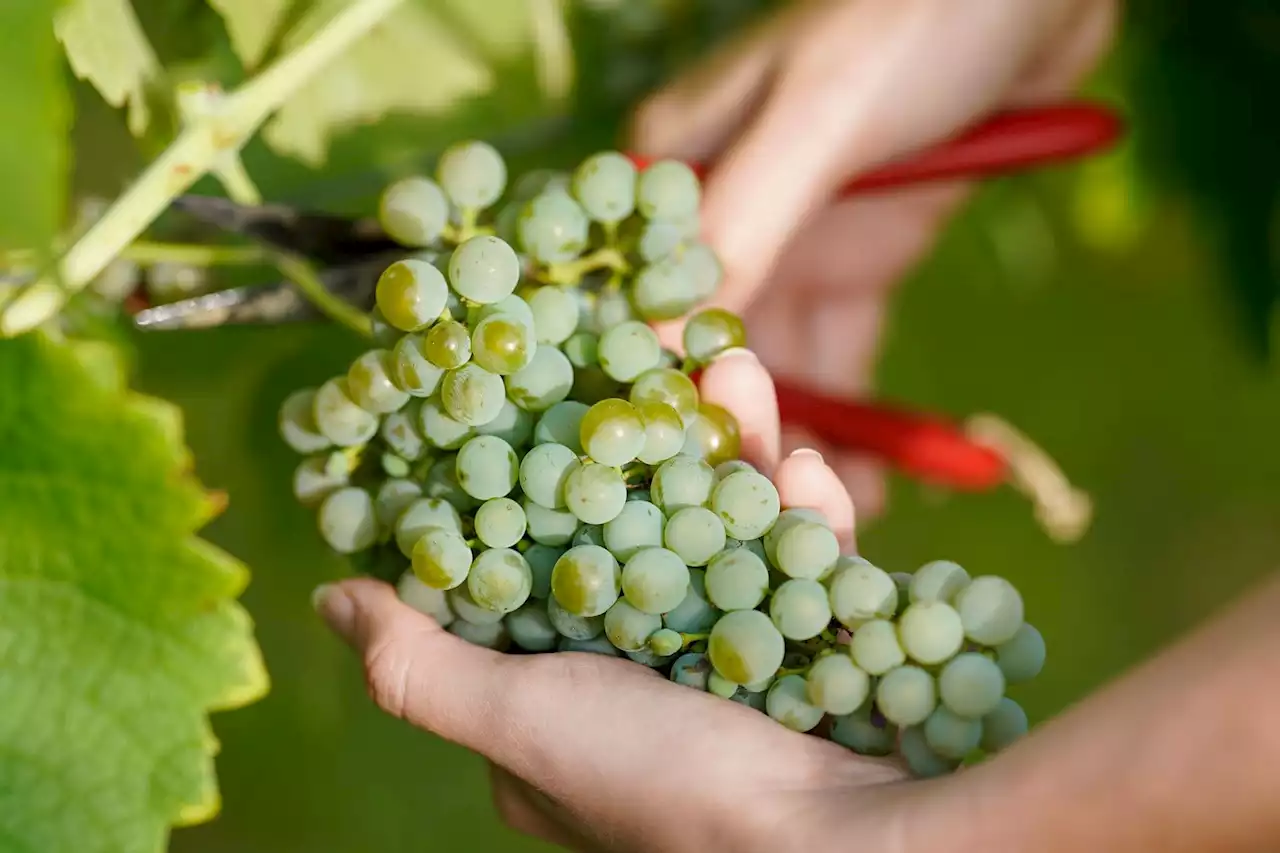
[[[406,257],[378,282],[379,346],[280,412],[325,542],[389,560],[471,643],[625,656],[918,775],[1020,736],[1005,689],[1044,644],[1018,590],[841,555],[699,400],[690,374],[745,333],[696,310],[721,278],[696,175],[602,152],[506,190],[467,142],[383,195]],[[677,356],[650,323],[681,316]]]

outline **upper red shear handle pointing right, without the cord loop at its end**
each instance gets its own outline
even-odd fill
[[[960,136],[887,163],[841,187],[841,196],[929,181],[982,178],[1070,160],[1110,146],[1123,132],[1120,117],[1085,101],[997,113]],[[641,169],[653,160],[631,159]],[[708,165],[691,163],[699,177]]]

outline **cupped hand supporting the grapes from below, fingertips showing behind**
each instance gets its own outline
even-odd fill
[[[746,351],[703,375],[703,398],[740,420],[745,455],[783,506],[823,512],[852,549],[849,494],[820,456],[780,461],[773,386]],[[890,760],[796,734],[746,706],[639,663],[581,652],[470,646],[374,580],[317,590],[329,625],[364,658],[387,712],[480,753],[515,829],[580,850],[812,850],[832,838],[895,850],[916,786]]]

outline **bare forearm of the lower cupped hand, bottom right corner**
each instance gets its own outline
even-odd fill
[[[938,853],[1280,849],[1280,576],[928,799]]]

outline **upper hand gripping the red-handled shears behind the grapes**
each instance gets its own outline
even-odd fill
[[[704,238],[716,304],[742,314],[765,366],[837,396],[869,389],[891,287],[964,197],[959,184],[832,201],[847,178],[1002,106],[1060,97],[1110,40],[1115,0],[808,0],[639,110],[630,147],[716,164]],[[664,329],[668,346],[677,324]],[[818,448],[861,517],[874,461]]]

